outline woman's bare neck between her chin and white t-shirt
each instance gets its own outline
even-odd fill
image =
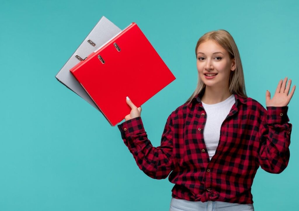
[[[228,88],[206,86],[201,101],[205,104],[216,104],[226,100],[230,96],[231,93],[228,91]]]

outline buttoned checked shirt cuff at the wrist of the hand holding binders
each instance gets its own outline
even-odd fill
[[[133,134],[145,132],[141,117],[135,117],[118,125],[121,138],[127,139]]]

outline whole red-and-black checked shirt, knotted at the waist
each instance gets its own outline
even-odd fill
[[[207,114],[202,93],[168,116],[161,146],[152,146],[141,117],[119,124],[121,137],[146,175],[165,179],[170,174],[174,198],[253,204],[251,186],[259,166],[279,174],[289,163],[288,106],[266,110],[256,100],[234,94],[235,104],[210,160],[203,138]]]

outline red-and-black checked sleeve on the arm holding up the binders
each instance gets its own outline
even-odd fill
[[[165,179],[174,169],[173,121],[169,115],[161,137],[161,146],[152,146],[141,117],[118,125],[123,142],[132,153],[139,169],[153,179]]]

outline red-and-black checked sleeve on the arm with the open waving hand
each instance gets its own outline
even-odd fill
[[[289,163],[292,124],[288,123],[288,106],[266,108],[259,130],[259,163],[266,172],[279,174]]]

